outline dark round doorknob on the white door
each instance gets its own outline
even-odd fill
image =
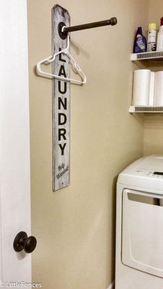
[[[37,239],[33,236],[28,237],[26,232],[19,232],[15,237],[13,247],[16,252],[24,250],[26,253],[32,253],[37,246]]]

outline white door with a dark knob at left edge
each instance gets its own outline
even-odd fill
[[[30,236],[27,8],[0,4],[0,280],[30,282],[31,255],[13,248],[18,232]]]

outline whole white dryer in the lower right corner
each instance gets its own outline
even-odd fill
[[[117,179],[115,289],[163,289],[163,155]]]

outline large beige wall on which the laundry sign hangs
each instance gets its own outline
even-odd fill
[[[117,17],[115,27],[74,32],[71,52],[86,73],[71,86],[71,182],[52,192],[51,81],[35,75],[51,51],[52,0],[28,0],[33,281],[45,289],[106,289],[114,277],[115,183],[143,155],[140,116],[128,113],[137,26],[148,0],[63,0],[71,25]],[[143,15],[143,17],[142,17]]]

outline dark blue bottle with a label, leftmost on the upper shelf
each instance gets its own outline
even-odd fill
[[[142,27],[137,28],[135,36],[133,53],[146,52],[146,38],[142,34]]]

